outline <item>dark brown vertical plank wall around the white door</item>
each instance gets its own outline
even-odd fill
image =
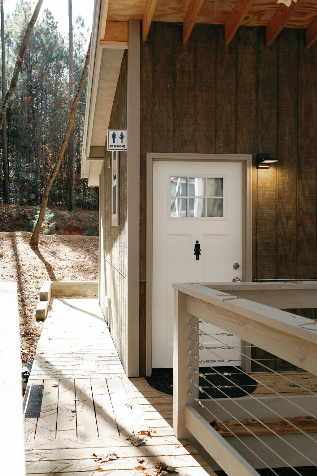
[[[183,44],[181,24],[152,23],[141,46],[141,280],[146,152],[252,154],[253,278],[317,277],[316,64],[302,29],[266,47],[265,28],[240,27],[225,45],[223,26],[196,24]],[[257,153],[280,162],[257,170]],[[140,334],[144,375],[145,283]]]

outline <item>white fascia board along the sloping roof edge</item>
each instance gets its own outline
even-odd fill
[[[88,71],[88,85],[87,85],[87,97],[86,97],[86,110],[85,110],[85,122],[83,132],[83,145],[82,145],[82,164],[81,164],[81,178],[87,178],[89,174],[90,163],[87,163],[87,152],[89,152],[88,146],[90,146],[89,131],[91,135],[91,127],[93,122],[93,109],[92,105],[92,86],[93,83],[99,78],[99,69],[101,62],[101,53],[99,46],[101,18],[100,15],[103,11],[104,0],[95,0],[93,7],[93,20],[92,20],[92,43],[91,43],[91,56],[90,66]],[[98,58],[100,56],[100,58]],[[97,61],[96,61],[97,59]],[[99,60],[99,61],[98,61]],[[99,66],[98,66],[99,62]],[[97,63],[97,64],[96,64]],[[98,71],[96,70],[98,69]],[[93,106],[93,108],[92,108]],[[91,118],[91,120],[90,120]],[[89,142],[89,143],[88,143]]]

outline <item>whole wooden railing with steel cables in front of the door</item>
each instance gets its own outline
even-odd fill
[[[316,308],[317,283],[173,288],[176,437],[198,441],[228,476],[305,476],[317,466],[317,321],[280,309]]]

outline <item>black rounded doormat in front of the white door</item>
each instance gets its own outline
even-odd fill
[[[244,397],[256,389],[254,378],[246,375],[241,369],[199,367],[199,372],[205,375],[205,378],[199,377],[199,386],[203,389],[203,392],[199,390],[199,398]],[[152,377],[145,378],[151,387],[167,395],[173,395],[172,368],[155,368]]]

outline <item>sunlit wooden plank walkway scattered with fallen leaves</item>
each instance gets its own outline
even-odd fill
[[[182,476],[215,476],[194,446],[175,438],[172,397],[125,376],[96,299],[53,299],[29,378],[35,385],[43,397],[40,415],[24,419],[28,475],[154,476],[164,462]],[[112,453],[117,459],[93,456]]]

